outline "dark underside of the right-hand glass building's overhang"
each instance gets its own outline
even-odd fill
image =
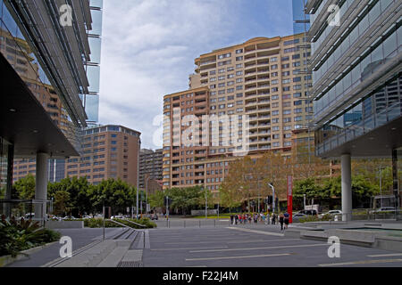
[[[392,150],[402,146],[401,134],[402,117],[399,117],[320,156],[324,159],[339,158],[342,154],[350,154],[356,158],[389,158]]]

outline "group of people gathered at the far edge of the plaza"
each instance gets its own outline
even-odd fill
[[[230,224],[252,224],[254,222],[257,224],[258,222],[264,222],[265,224],[281,224],[281,231],[288,229],[289,226],[289,214],[285,212],[284,214],[281,213],[277,216],[275,213],[270,215],[269,213],[266,216],[263,213],[260,214],[237,214],[237,215],[230,215]]]

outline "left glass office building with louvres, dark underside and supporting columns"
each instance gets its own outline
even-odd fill
[[[13,160],[35,159],[35,199],[46,201],[49,172],[58,173],[54,159],[79,155],[76,134],[90,119],[80,94],[98,90],[91,70],[98,69],[101,25],[93,18],[99,20],[102,2],[70,2],[65,25],[64,4],[0,1],[0,173],[6,199],[12,197]],[[38,218],[45,213],[46,206],[36,208]]]

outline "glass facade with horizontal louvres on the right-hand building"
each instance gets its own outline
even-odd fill
[[[325,156],[402,116],[402,19],[394,12],[398,3],[341,0],[334,25],[329,13],[320,15],[330,8],[329,1],[317,2],[311,11],[309,68],[317,155]]]

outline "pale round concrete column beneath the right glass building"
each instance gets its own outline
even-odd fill
[[[352,166],[350,154],[340,157],[342,175],[342,221],[352,220]]]

